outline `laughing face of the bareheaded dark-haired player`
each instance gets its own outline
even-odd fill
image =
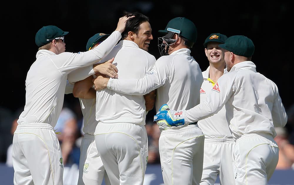
[[[134,34],[134,42],[139,48],[148,51],[150,41],[153,40],[152,29],[149,22],[140,24],[138,34]]]

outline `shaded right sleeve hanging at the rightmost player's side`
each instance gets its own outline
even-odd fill
[[[276,85],[274,91],[277,94],[277,97],[273,102],[272,109],[273,125],[274,127],[285,127],[288,117],[285,111],[285,107],[282,103],[281,97],[279,95],[278,87]]]

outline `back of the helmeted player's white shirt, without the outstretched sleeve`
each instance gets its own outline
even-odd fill
[[[173,110],[190,109],[200,103],[199,91],[203,77],[189,51],[180,49],[157,60],[170,66],[171,76],[165,85],[157,89],[156,110],[166,103]]]

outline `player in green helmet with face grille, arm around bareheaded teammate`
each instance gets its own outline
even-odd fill
[[[99,76],[94,82],[95,89],[107,86],[130,95],[142,95],[157,89],[156,110],[161,110],[160,106],[164,103],[173,109],[189,109],[199,104],[203,77],[189,49],[197,38],[195,24],[185,17],[177,17],[159,32],[165,35],[158,38],[162,56],[147,75],[140,79]],[[177,112],[179,117],[181,114]],[[203,169],[204,134],[197,123],[185,127],[170,127],[164,122],[158,125],[161,130],[159,150],[164,184],[199,184]]]

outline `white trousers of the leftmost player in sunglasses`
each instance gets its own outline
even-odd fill
[[[63,185],[63,160],[51,125],[18,125],[12,142],[16,185]]]

